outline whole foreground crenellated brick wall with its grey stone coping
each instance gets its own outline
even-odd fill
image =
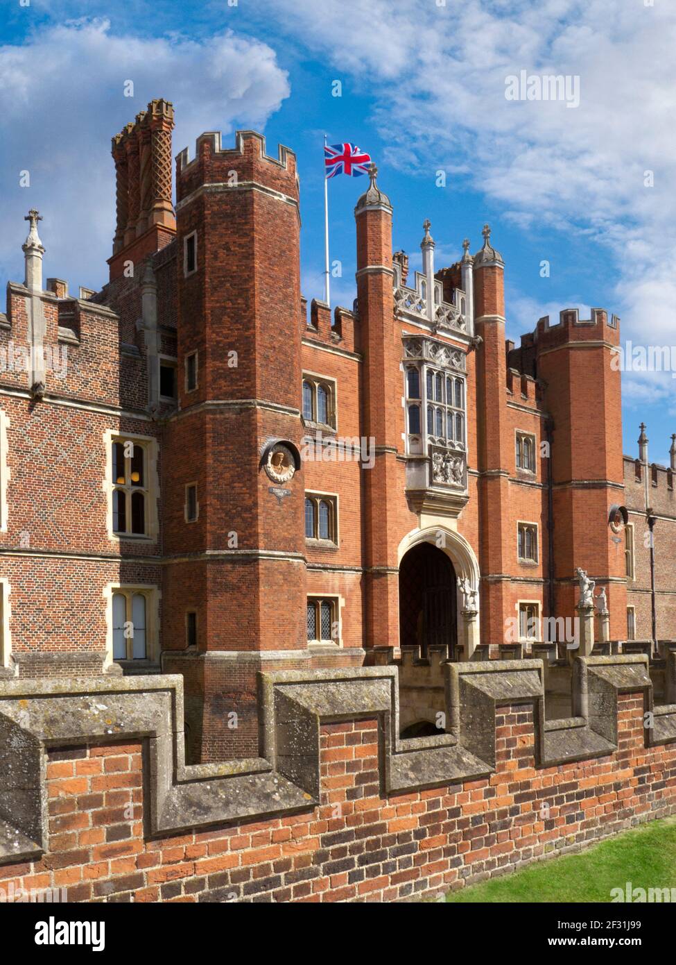
[[[645,657],[578,658],[549,723],[541,661],[445,671],[446,733],[409,741],[395,668],[261,674],[261,757],[189,767],[179,677],[1,682],[0,887],[406,900],[676,812]]]

